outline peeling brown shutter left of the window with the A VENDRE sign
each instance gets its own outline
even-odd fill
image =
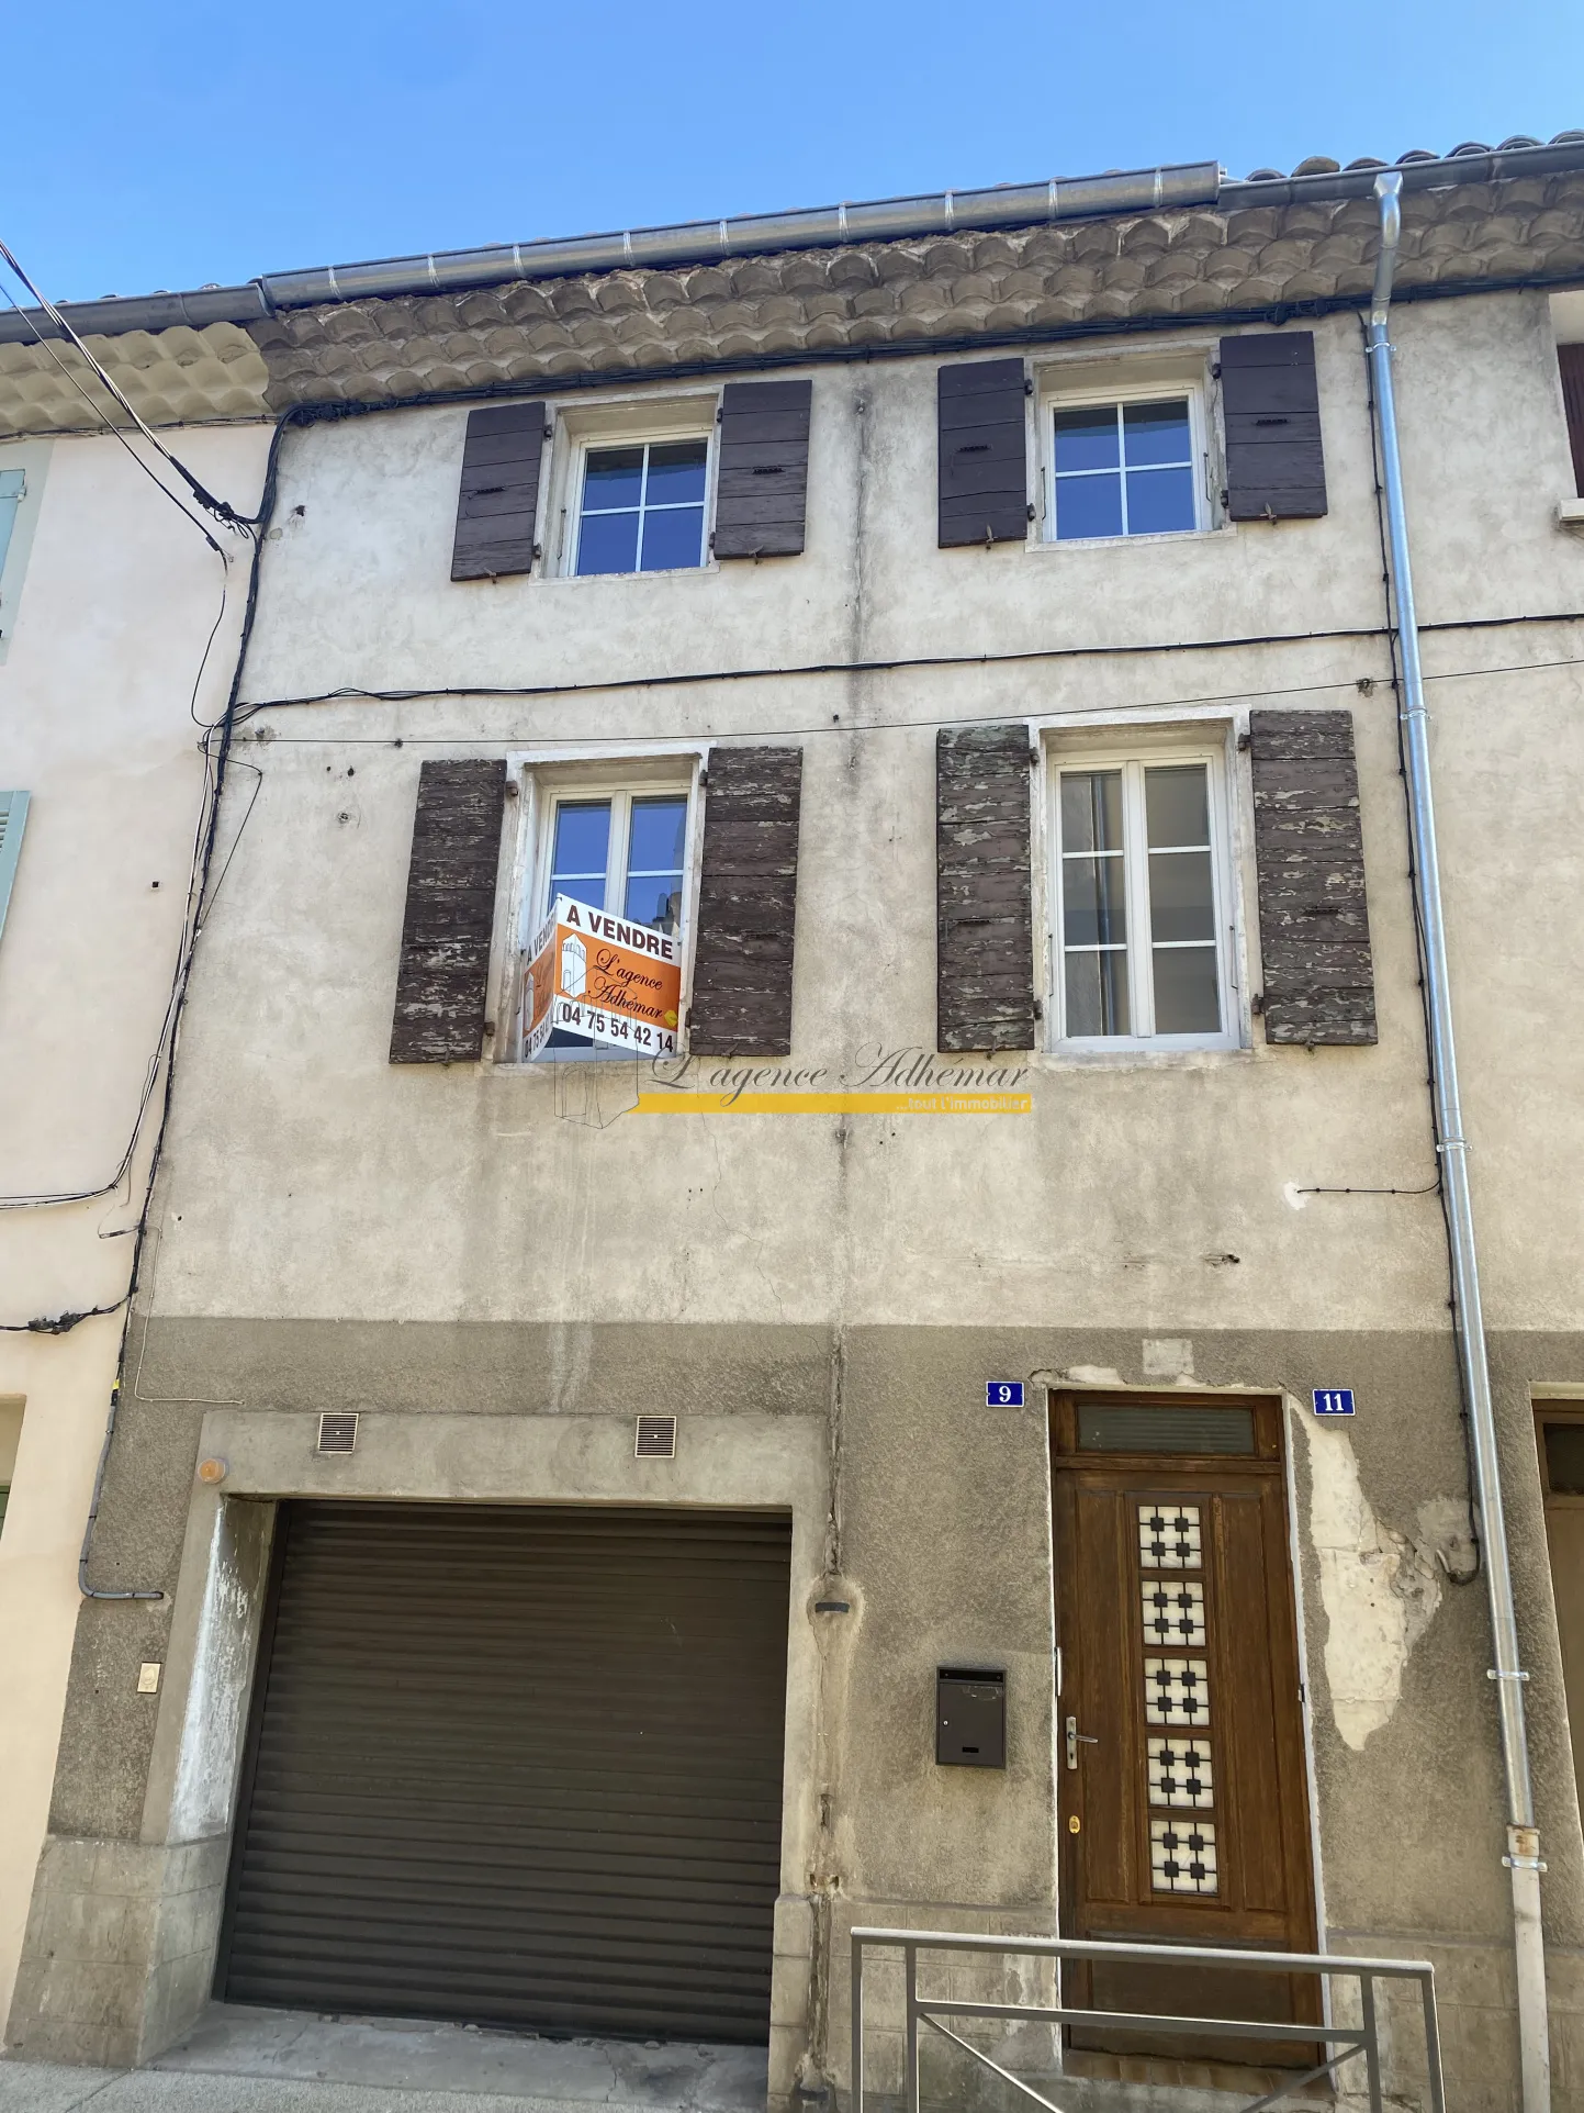
[[[391,1063],[479,1056],[505,797],[498,761],[418,771]]]

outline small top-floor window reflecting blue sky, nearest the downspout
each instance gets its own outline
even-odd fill
[[[1204,526],[1191,397],[1056,404],[1050,524],[1058,543]]]

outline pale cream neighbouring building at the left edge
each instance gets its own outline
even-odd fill
[[[226,420],[180,446],[237,511],[258,505],[270,423],[245,332],[97,353],[156,427]],[[129,420],[70,344],[0,317],[0,2003],[142,1245],[211,805],[203,727],[226,710],[249,573],[245,537],[209,520],[222,560],[156,490],[156,452],[137,440],[146,475],[110,423]]]

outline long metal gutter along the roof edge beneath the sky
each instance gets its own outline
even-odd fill
[[[1407,161],[1400,165],[1400,175],[1404,190],[1440,190],[1451,184],[1489,184],[1571,169],[1584,169],[1584,133],[1563,133],[1550,146]],[[158,332],[182,325],[203,330],[207,323],[256,323],[277,308],[315,308],[397,294],[458,294],[467,287],[511,285],[517,279],[712,264],[765,251],[834,249],[847,243],[1029,228],[1121,213],[1191,207],[1233,213],[1320,199],[1369,199],[1375,175],[1375,167],[1366,167],[1238,184],[1225,182],[1212,161],[1172,163],[1045,184],[999,184],[991,190],[946,190],[790,213],[743,213],[735,220],[691,220],[680,226],[629,228],[617,235],[574,235],[532,243],[490,243],[484,249],[376,258],[363,264],[321,264],[313,270],[264,273],[247,285],[68,302],[61,304],[61,313],[80,336],[125,336],[133,330]],[[61,332],[38,308],[0,313],[0,344],[25,344],[36,336],[57,338]]]

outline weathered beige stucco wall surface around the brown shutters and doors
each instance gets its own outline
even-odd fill
[[[406,328],[403,311],[393,342]],[[1045,1401],[1181,1388],[1282,1403],[1318,1942],[1430,1957],[1451,2105],[1516,2105],[1366,368],[1356,313],[1293,328],[1316,338],[1328,511],[1233,526],[1210,492],[1202,530],[1174,537],[1064,547],[1035,524],[1026,545],[940,549],[936,376],[961,351],[786,363],[813,382],[807,549],[762,564],[545,577],[564,503],[551,450],[543,568],[454,583],[460,382],[458,401],[285,433],[234,733],[247,769],[222,807],[226,883],[196,955],[97,1528],[101,1581],[167,1597],[76,1619],[13,2045],[137,2060],[196,2016],[277,1500],[746,1504],[792,1515],[771,2092],[843,2092],[855,1923],[1056,1929]],[[1557,511],[1573,484],[1546,289],[1472,287],[1404,304],[1392,328],[1531,1671],[1554,2102],[1584,2107],[1584,1836],[1533,1435],[1535,1399],[1584,1401],[1584,535]],[[281,334],[294,357],[310,336]],[[1052,325],[1020,353],[1043,404],[1208,378],[1217,336],[1204,319],[1147,340]],[[697,395],[708,420],[731,347],[716,340],[712,363],[593,391],[583,376],[579,404]],[[532,382],[555,414],[553,376]],[[1204,404],[1214,454],[1208,380]],[[57,442],[57,465],[68,446],[108,444]],[[260,456],[256,433],[203,446],[228,490]],[[1280,1048],[1261,1029],[1246,733],[1271,706],[1352,712],[1369,1048]],[[976,721],[1026,725],[1037,754],[1043,1040],[955,1061],[936,1056],[936,735]],[[712,746],[748,742],[803,750],[790,1059],[496,1061],[543,788],[665,756],[697,803]],[[1236,1046],[1064,1048],[1054,773],[1185,742],[1225,784]],[[418,771],[441,756],[501,759],[517,788],[492,1031],[479,1063],[391,1065]],[[982,1084],[991,1067],[1026,1111],[655,1105],[722,1084],[841,1092],[963,1069]],[[82,1217],[78,1242],[97,1226]],[[112,1361],[114,1321],[49,1354],[84,1359],[91,1327]],[[76,1382],[74,1519],[108,1369]],[[1007,1376],[1029,1405],[986,1409],[984,1382]],[[1316,1422],[1324,1386],[1356,1390],[1352,1424]],[[338,1409],[361,1414],[357,1452],[325,1458],[317,1418]],[[674,1460],[634,1458],[636,1409],[678,1418]],[[25,1445],[32,1397],[27,1418]],[[218,1483],[194,1479],[201,1460]],[[15,1504],[0,1576],[19,1562]],[[63,1572],[59,1589],[63,1635]],[[161,1693],[139,1697],[150,1661]],[[936,1766],[934,1667],[955,1663],[1007,1669],[1005,1773]],[[63,1665],[55,1709],[61,1680]],[[15,1855],[32,1870],[36,1849]],[[893,2086],[891,2020],[876,2026],[874,2077]],[[1415,2088],[1415,2062],[1404,2028],[1394,2088]]]

